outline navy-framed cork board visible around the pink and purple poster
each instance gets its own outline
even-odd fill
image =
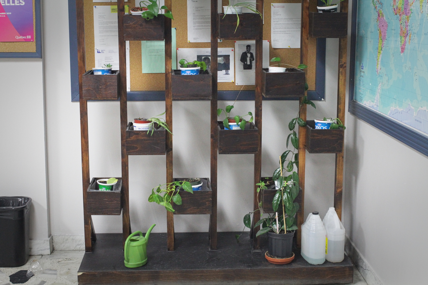
[[[0,42],[0,58],[42,58],[40,0],[32,1],[35,41]]]

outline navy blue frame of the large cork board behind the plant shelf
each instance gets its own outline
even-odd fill
[[[70,71],[71,71],[71,101],[79,101],[79,74],[77,67],[77,23],[76,0],[68,0],[68,25],[70,34]],[[317,38],[315,90],[308,90],[309,100],[324,100],[325,98],[325,50],[326,39]],[[238,90],[218,91],[218,100],[233,101]],[[238,100],[253,101],[254,91],[241,91]],[[165,91],[128,91],[128,101],[165,101]],[[299,98],[265,98],[263,100],[298,100]]]

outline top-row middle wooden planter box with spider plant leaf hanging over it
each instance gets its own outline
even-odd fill
[[[236,29],[235,14],[218,14],[218,38],[224,40],[254,40],[263,32],[263,20],[259,14],[239,14],[239,26]],[[236,29],[236,32],[235,32]],[[242,51],[241,51],[242,52]]]

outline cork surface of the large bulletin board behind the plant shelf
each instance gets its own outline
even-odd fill
[[[125,5],[130,8],[135,6],[135,0],[128,0]],[[137,3],[139,1],[137,0]],[[187,1],[172,0],[172,13],[174,19],[172,27],[176,28],[177,48],[209,48],[211,43],[189,43],[187,42]],[[227,0],[223,0],[226,5]],[[264,22],[263,39],[270,40],[270,4],[271,3],[301,3],[300,0],[265,0],[264,1]],[[93,6],[115,5],[112,2],[94,3],[92,0],[85,0],[85,43],[86,43],[86,70],[95,67],[95,43],[94,43],[94,15]],[[184,4],[184,5],[183,5]],[[311,9],[316,10],[316,1],[311,1]],[[300,63],[300,49],[274,49],[269,45],[269,58],[280,57],[282,63],[297,66]],[[224,40],[218,43],[218,47],[235,47],[235,41]],[[307,70],[307,81],[309,90],[315,90],[315,68],[317,40],[309,38],[309,61]],[[165,75],[163,73],[142,73],[141,66],[141,41],[130,41],[130,71],[131,71],[131,91],[165,91]],[[235,85],[235,82],[219,82],[218,90],[241,90],[242,86]],[[245,85],[243,90],[254,90],[255,85]]]

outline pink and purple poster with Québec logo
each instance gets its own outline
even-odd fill
[[[0,0],[2,41],[34,41],[33,0]]]

